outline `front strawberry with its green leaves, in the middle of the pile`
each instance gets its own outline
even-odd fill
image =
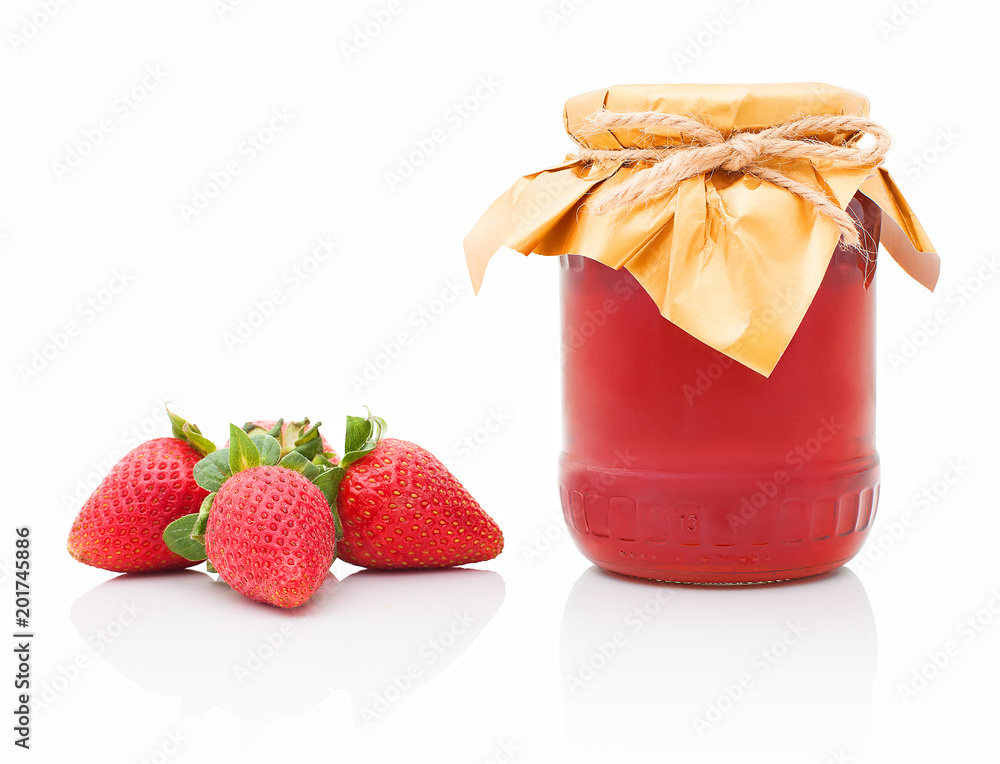
[[[236,425],[229,433],[230,446],[194,468],[212,493],[164,539],[182,556],[207,557],[240,594],[297,607],[320,587],[336,556],[338,526],[327,496],[333,470],[297,451],[282,457],[269,434],[250,436]]]

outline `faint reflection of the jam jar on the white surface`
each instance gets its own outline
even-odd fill
[[[848,568],[735,589],[591,567],[560,630],[566,760],[869,761],[877,663]]]

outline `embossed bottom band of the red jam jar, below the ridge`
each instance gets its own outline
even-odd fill
[[[633,472],[560,463],[563,515],[606,570],[684,584],[772,583],[840,567],[878,506],[878,456],[817,464],[781,485],[766,468]]]

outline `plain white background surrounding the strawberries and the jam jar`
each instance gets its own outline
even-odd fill
[[[15,753],[980,759],[1000,670],[989,610],[1000,610],[1000,278],[983,265],[998,257],[997,199],[992,159],[980,159],[1000,116],[1000,11],[930,0],[231,6],[9,0],[0,12],[3,623],[7,633],[14,528],[27,524],[42,701],[32,750]],[[479,297],[468,284],[462,239],[480,213],[570,149],[567,98],[676,81],[865,93],[895,136],[886,165],[943,258],[933,295],[880,259],[882,499],[868,546],[822,580],[698,589],[593,569],[555,488],[557,264],[507,253]],[[120,99],[134,89],[132,108]],[[276,110],[287,125],[248,149]],[[410,156],[418,166],[390,183]],[[239,173],[185,215],[231,161]],[[333,255],[317,255],[322,237]],[[61,337],[70,322],[78,331]],[[506,550],[478,571],[337,562],[297,613],[197,570],[116,578],[76,563],[65,538],[87,486],[136,438],[169,433],[165,400],[219,440],[230,421],[309,415],[340,442],[343,416],[370,405],[392,435],[454,469]],[[788,624],[805,631],[788,637]],[[783,638],[784,657],[762,658]],[[914,672],[931,678],[904,698]],[[12,679],[0,685],[12,708]],[[712,708],[723,713],[699,734]],[[11,727],[8,713],[8,750]]]

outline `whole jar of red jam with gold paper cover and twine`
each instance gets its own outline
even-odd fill
[[[876,252],[928,288],[940,267],[867,114],[818,83],[584,93],[577,153],[466,237],[476,289],[502,247],[562,258],[562,505],[598,565],[777,581],[861,546]]]

